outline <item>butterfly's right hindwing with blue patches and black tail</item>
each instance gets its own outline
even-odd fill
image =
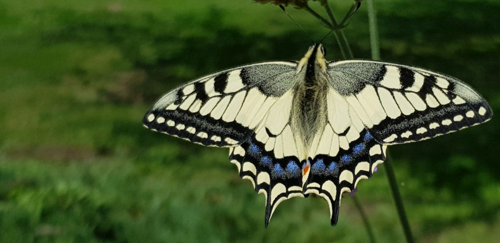
[[[371,176],[385,160],[386,146],[373,139],[354,109],[332,88],[327,110],[326,125],[314,135],[309,148],[304,191],[326,199],[330,222],[335,225],[342,193]]]

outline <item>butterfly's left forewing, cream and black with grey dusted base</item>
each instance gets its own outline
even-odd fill
[[[263,62],[201,77],[163,95],[143,124],[202,145],[235,146],[293,85],[295,68],[291,61]]]

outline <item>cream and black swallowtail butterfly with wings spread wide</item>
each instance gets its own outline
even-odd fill
[[[321,44],[300,61],[268,61],[203,76],[164,94],[143,125],[228,147],[239,176],[276,206],[317,194],[337,223],[343,192],[369,178],[387,145],[489,120],[467,84],[434,71],[372,60],[326,61]]]

